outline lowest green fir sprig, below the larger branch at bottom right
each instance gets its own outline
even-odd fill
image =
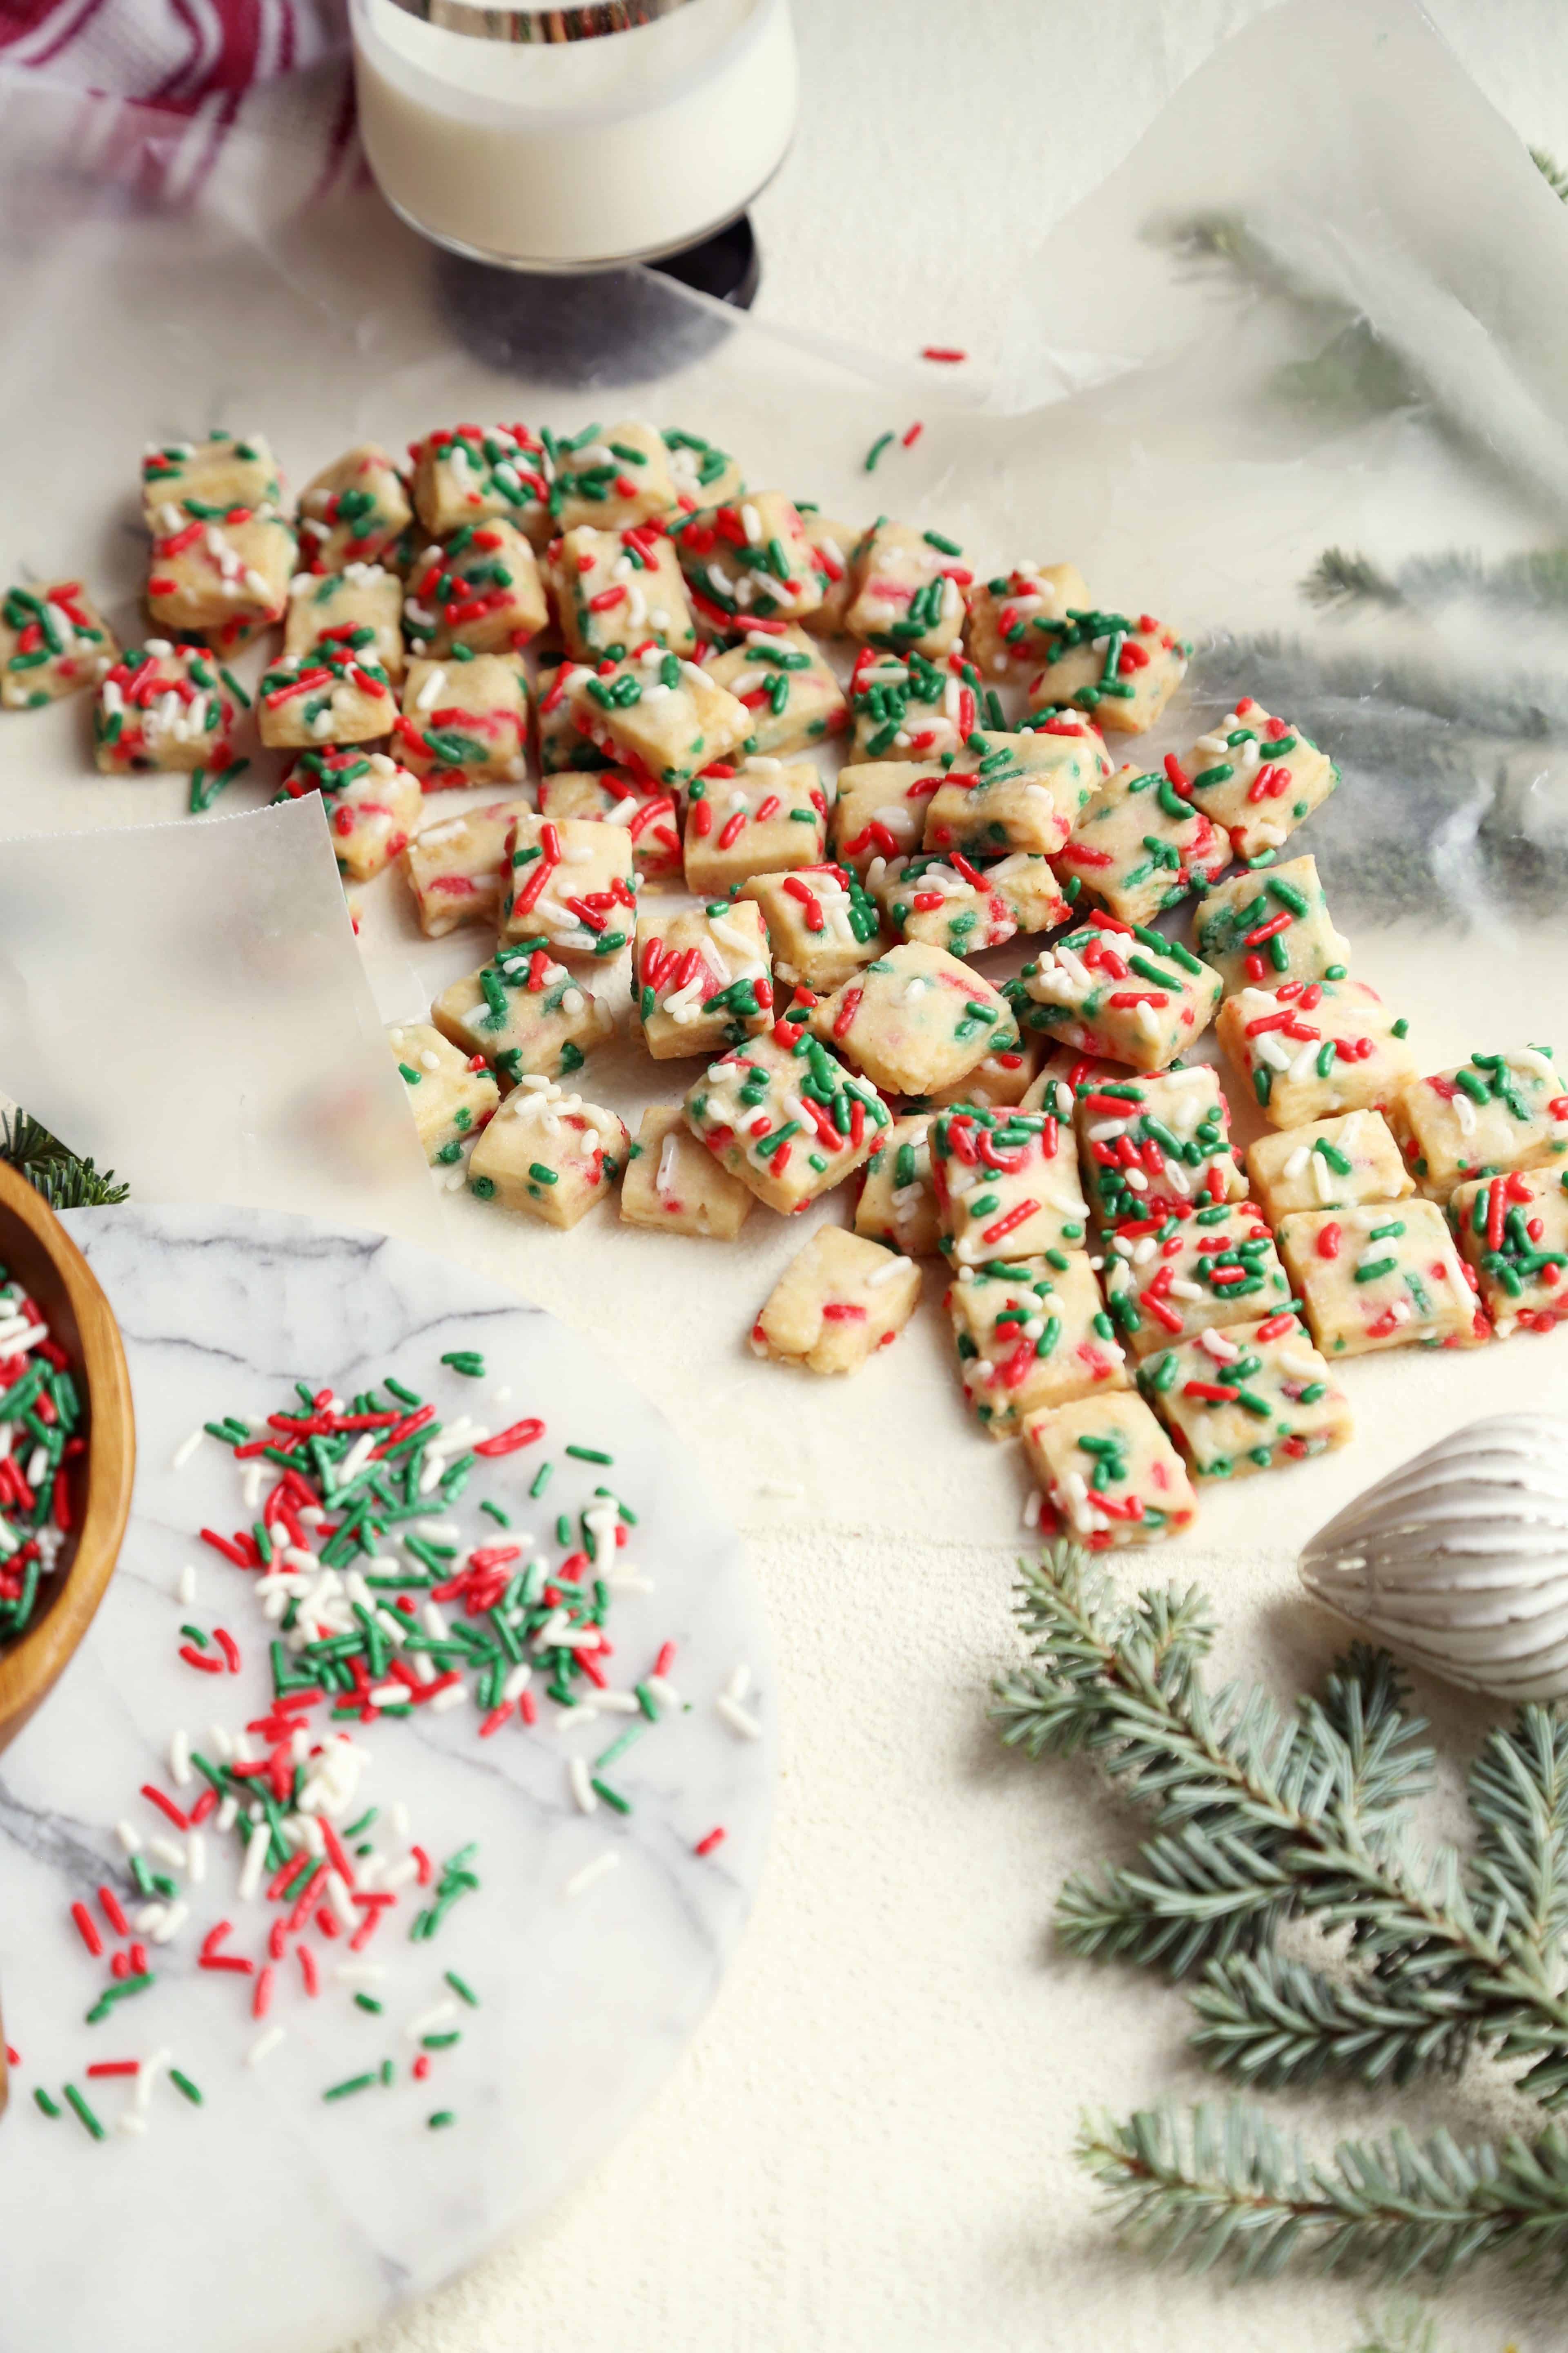
[[[1319,2271],[1450,2278],[1479,2257],[1568,2273],[1568,2134],[1460,2148],[1446,2132],[1413,2141],[1342,2141],[1333,2165],[1307,2158],[1255,2108],[1199,2106],[1182,2125],[1143,2108],[1126,2125],[1088,2120],[1079,2162],[1110,2193],[1119,2226],[1154,2261],[1227,2264],[1274,2278],[1293,2257]]]

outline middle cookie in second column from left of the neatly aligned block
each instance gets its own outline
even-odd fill
[[[1166,1219],[1157,1233],[1112,1233],[1105,1301],[1143,1358],[1211,1325],[1269,1315],[1291,1304],[1291,1285],[1253,1202],[1215,1202],[1185,1221]]]

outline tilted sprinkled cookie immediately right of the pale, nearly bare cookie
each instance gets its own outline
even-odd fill
[[[1220,974],[1143,925],[1084,925],[1009,981],[1020,1031],[1133,1071],[1164,1071],[1204,1035]]]

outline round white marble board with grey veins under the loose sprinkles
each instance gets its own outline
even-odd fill
[[[125,1332],[139,1473],[99,1619],[52,1701],[0,1758],[0,1995],[21,2054],[0,2118],[0,2353],[322,2353],[543,2214],[611,2146],[712,1998],[769,1826],[762,1607],[738,1539],[658,1412],[581,1339],[496,1285],[404,1242],[259,1212],[120,1207],[66,1224]],[[487,1377],[442,1369],[447,1348],[480,1348]],[[200,1972],[195,1955],[221,1918],[235,1920],[233,1951],[261,1951],[266,1906],[235,1904],[237,1842],[209,1824],[190,1925],[153,1948],[158,1986],[89,2028],[106,1962],[82,1948],[71,1901],[92,1901],[106,1878],[125,1894],[115,1821],[160,1828],[136,1791],[148,1779],[172,1791],[172,1727],[186,1725],[200,1746],[209,1722],[242,1725],[270,1689],[249,1579],[195,1541],[202,1522],[247,1522],[235,1468],[209,1440],[183,1471],[172,1459],[214,1409],[261,1417],[284,1405],[296,1374],[350,1395],[388,1372],[444,1419],[465,1409],[491,1428],[524,1414],[548,1424],[538,1447],[475,1475],[458,1506],[465,1529],[480,1494],[491,1494],[555,1560],[555,1511],[581,1508],[599,1482],[632,1506],[621,1565],[656,1591],[616,1595],[611,1680],[646,1673],[670,1638],[689,1711],[616,1765],[630,1817],[581,1814],[567,1762],[574,1748],[607,1746],[625,1718],[562,1734],[545,1725],[557,1708],[541,1701],[538,1729],[512,1718],[487,1741],[473,1706],[355,1725],[374,1753],[367,1802],[407,1800],[411,1838],[437,1861],[480,1842],[482,1889],[435,1941],[409,1941],[402,1899],[362,1955],[388,1965],[371,1988],[386,2014],[355,2009],[329,1965],[322,1995],[308,2000],[289,1958],[273,2005],[287,2040],[247,2068],[261,2033],[252,1981]],[[494,1402],[501,1384],[512,1395]],[[614,1466],[564,1459],[567,1442],[602,1447]],[[529,1504],[545,1454],[555,1473]],[[176,1581],[190,1560],[197,1600],[181,1607]],[[242,1673],[183,1666],[181,1619],[228,1626]],[[748,1708],[764,1725],[757,1741],[712,1706],[741,1661],[752,1668]],[[724,1845],[693,1857],[717,1824]],[[564,1882],[604,1849],[618,1868],[567,1899]],[[343,1955],[343,1941],[315,1948],[324,1962]],[[402,2028],[447,1995],[444,1969],[458,1969],[482,2007],[456,2019],[463,2042],[435,2054],[421,2085]],[[205,2106],[162,2082],[146,2137],[125,2137],[113,2120],[132,2089],[89,2085],[85,2068],[158,2047],[174,2052]],[[395,2087],[322,2101],[327,2085],[383,2057],[397,2061]],[[92,2097],[110,2127],[103,2144],[71,2111],[59,2122],[38,2113],[33,2085],[59,2097],[63,2080]],[[433,2132],[425,2118],[440,2108],[456,2111],[456,2125]]]

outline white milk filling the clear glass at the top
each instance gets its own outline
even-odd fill
[[[538,45],[355,0],[353,31],[381,193],[482,259],[574,268],[689,245],[750,202],[795,127],[788,0],[689,0]]]

